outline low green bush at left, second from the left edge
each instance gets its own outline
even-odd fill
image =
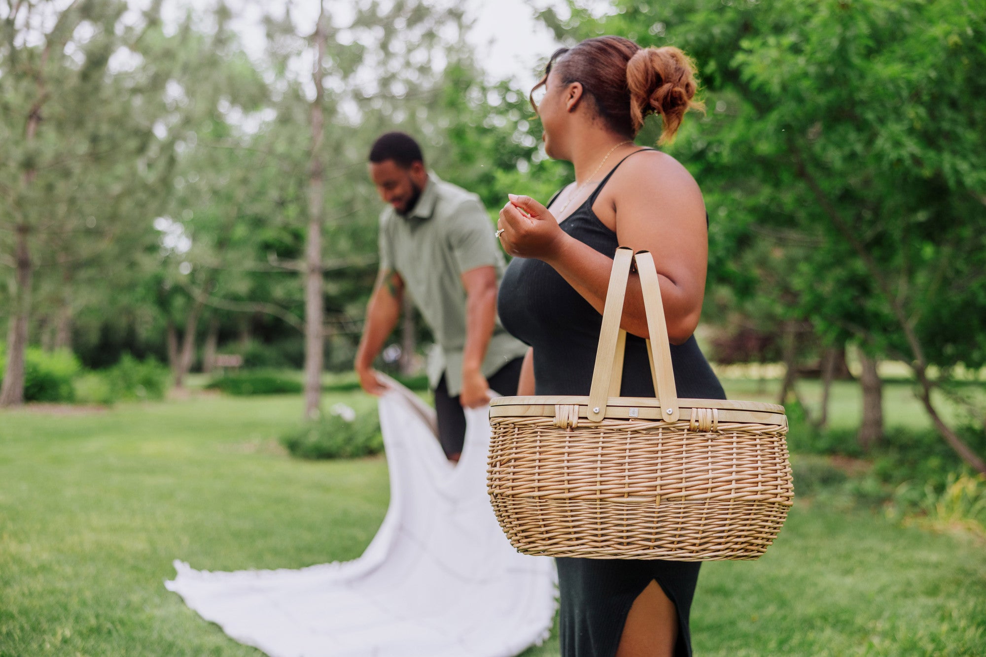
[[[138,361],[124,354],[113,366],[80,376],[76,398],[92,404],[164,399],[170,378],[168,367],[154,358]]]

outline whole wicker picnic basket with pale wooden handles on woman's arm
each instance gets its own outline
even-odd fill
[[[661,288],[636,254],[657,398],[620,397],[619,328],[633,252],[617,249],[589,397],[500,397],[490,406],[487,486],[528,555],[759,558],[794,498],[784,407],[678,399]]]

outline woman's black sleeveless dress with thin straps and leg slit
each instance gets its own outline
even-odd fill
[[[636,153],[640,151],[630,156]],[[619,245],[616,233],[599,221],[593,204],[625,160],[561,223],[562,230],[610,258]],[[536,394],[589,394],[602,326],[601,315],[589,301],[547,263],[514,258],[500,284],[498,309],[504,327],[534,349]],[[627,335],[624,362],[621,394],[654,397],[647,344],[642,338]],[[671,363],[678,397],[726,399],[694,337],[682,345],[671,345]],[[677,609],[675,657],[691,654],[688,612],[700,563],[597,558],[558,558],[556,563],[563,657],[612,657],[633,601],[652,580]]]

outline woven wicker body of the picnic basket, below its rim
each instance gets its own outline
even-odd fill
[[[493,508],[511,544],[530,555],[758,558],[794,496],[783,426],[491,423]]]

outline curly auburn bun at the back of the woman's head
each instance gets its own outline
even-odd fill
[[[662,143],[674,136],[688,109],[704,108],[693,100],[698,89],[695,64],[672,45],[637,50],[626,65],[626,84],[634,131],[649,114],[661,114]]]

